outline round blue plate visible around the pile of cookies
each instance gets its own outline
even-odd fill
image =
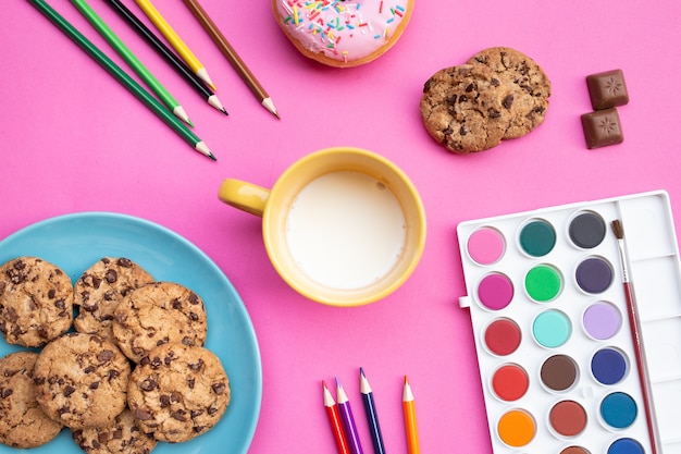
[[[208,339],[230,377],[232,402],[220,422],[185,443],[159,443],[154,454],[246,453],[256,431],[262,400],[260,351],[242,298],[218,266],[199,248],[170,230],[124,214],[85,212],[51,218],[0,242],[0,263],[35,256],[60,267],[75,282],[101,257],[127,257],[158,281],[194,290],[206,305]],[[0,338],[0,357],[21,349]],[[0,444],[0,454],[20,450]],[[57,439],[26,452],[82,453],[62,430]]]

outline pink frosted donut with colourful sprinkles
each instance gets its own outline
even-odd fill
[[[336,68],[369,63],[400,37],[414,0],[272,0],[276,22],[306,57]]]

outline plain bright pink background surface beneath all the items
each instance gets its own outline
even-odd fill
[[[127,0],[133,11],[137,7]],[[400,41],[381,59],[334,70],[302,58],[269,0],[202,0],[268,89],[282,120],[259,106],[179,0],[156,4],[213,77],[226,118],[210,108],[101,0],[92,8],[178,98],[218,162],[178,136],[97,66],[27,1],[0,14],[0,238],[53,216],[101,210],[160,223],[205,250],[242,295],[258,334],[263,400],[249,452],[334,453],[320,380],[338,376],[369,433],[358,368],[374,389],[389,453],[406,453],[401,384],[417,398],[424,453],[491,453],[457,223],[652,189],[669,192],[681,225],[681,5],[673,0],[418,0]],[[66,0],[52,7],[113,60]],[[491,46],[533,57],[553,83],[546,121],[475,156],[454,156],[421,124],[423,83]],[[584,77],[621,69],[630,103],[624,143],[587,150]],[[221,204],[224,177],[270,186],[296,159],[350,145],[404,169],[428,213],[422,261],[373,305],[337,309],[290,290],[265,255],[258,218]]]

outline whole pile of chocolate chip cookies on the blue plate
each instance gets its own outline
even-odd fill
[[[0,358],[0,443],[13,447],[66,427],[88,453],[148,454],[205,433],[230,404],[227,375],[203,347],[202,299],[125,258],[102,258],[75,285],[40,258],[8,261],[0,332],[40,348]]]

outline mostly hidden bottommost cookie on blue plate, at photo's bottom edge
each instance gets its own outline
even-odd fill
[[[87,454],[149,454],[157,445],[153,438],[139,430],[128,408],[110,426],[76,429],[72,437]]]

